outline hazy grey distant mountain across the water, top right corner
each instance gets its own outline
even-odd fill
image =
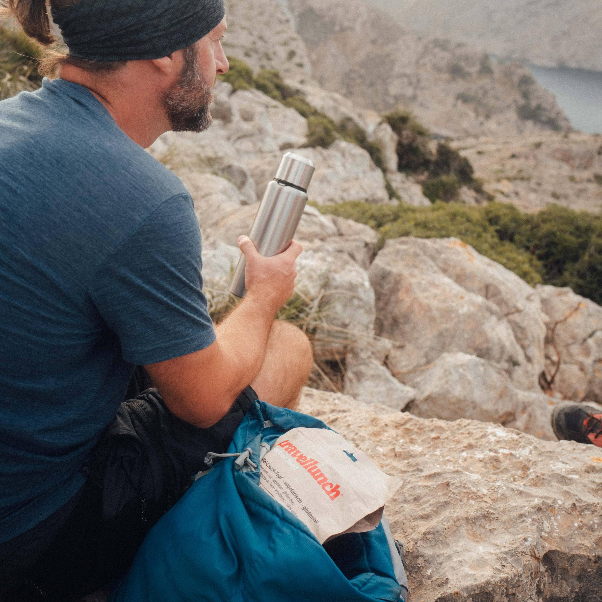
[[[602,71],[600,0],[369,0],[405,26],[500,57]]]

